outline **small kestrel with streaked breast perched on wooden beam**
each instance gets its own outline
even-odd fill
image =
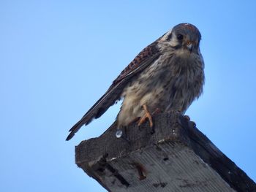
[[[108,91],[69,130],[71,139],[83,125],[99,118],[122,99],[117,128],[138,120],[138,126],[152,114],[178,111],[182,115],[203,93],[204,61],[200,53],[201,34],[190,23],[180,23],[144,48],[113,81]]]

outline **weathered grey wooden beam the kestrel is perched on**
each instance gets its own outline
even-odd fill
[[[115,123],[75,147],[76,164],[108,191],[256,191],[255,183],[195,124],[176,113],[123,129]]]

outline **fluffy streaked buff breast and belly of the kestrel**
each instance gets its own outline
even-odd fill
[[[163,111],[167,108],[187,109],[203,86],[200,77],[203,69],[200,64],[191,63],[195,61],[179,55],[161,55],[124,88],[118,121],[126,125],[132,118],[143,115],[143,104],[151,112],[156,108]]]

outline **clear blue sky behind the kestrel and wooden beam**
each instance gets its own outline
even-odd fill
[[[66,142],[122,69],[178,23],[202,34],[203,96],[187,110],[253,180],[255,1],[0,1],[0,191],[105,191],[75,165],[120,104]]]

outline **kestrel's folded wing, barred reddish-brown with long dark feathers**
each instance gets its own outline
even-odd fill
[[[108,91],[91,107],[91,109],[83,115],[78,123],[69,130],[69,135],[66,140],[71,139],[75,133],[84,124],[88,125],[94,118],[99,118],[108,108],[116,101],[121,99],[121,93],[129,82],[130,78],[138,72],[141,72],[153,61],[159,58],[160,52],[157,47],[157,42],[153,42],[143,49],[135,59],[118,75],[113,81]]]

